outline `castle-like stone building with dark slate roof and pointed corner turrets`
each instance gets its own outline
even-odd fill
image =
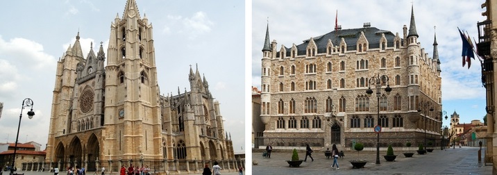
[[[264,144],[282,149],[338,144],[350,149],[362,142],[376,147],[373,126],[380,122],[382,149],[388,144],[423,143],[425,134],[439,144],[438,44],[435,37],[433,58],[429,58],[416,42],[414,10],[407,31],[404,25],[400,36],[364,24],[278,49],[276,40],[269,42],[268,25],[260,95]],[[376,85],[381,87],[379,97]],[[366,93],[369,88],[374,92],[371,97]]]

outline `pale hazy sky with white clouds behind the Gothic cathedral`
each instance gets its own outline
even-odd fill
[[[104,50],[110,24],[125,0],[4,1],[0,6],[0,142],[15,142],[22,101],[34,101],[35,117],[23,114],[19,142],[47,144],[56,63],[80,33],[83,55],[90,42]],[[153,24],[160,93],[189,90],[189,65],[207,78],[221,103],[233,148],[244,147],[244,1],[141,1],[141,17]],[[27,112],[27,110],[25,110]],[[244,147],[245,148],[245,147]]]

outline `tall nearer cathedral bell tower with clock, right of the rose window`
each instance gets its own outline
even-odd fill
[[[110,25],[105,90],[103,158],[162,158],[152,25],[135,0]]]

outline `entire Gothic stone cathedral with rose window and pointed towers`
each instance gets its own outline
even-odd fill
[[[178,173],[217,160],[236,169],[219,102],[198,67],[185,77],[189,91],[160,95],[152,25],[136,2],[126,1],[110,26],[108,58],[102,44],[83,57],[78,33],[58,61],[47,164],[90,171],[153,164]]]

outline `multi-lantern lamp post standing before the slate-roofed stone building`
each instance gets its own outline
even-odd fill
[[[383,84],[386,84],[387,87],[385,88],[385,92],[390,94],[391,88],[390,85],[388,84],[388,76],[378,74],[377,76],[372,76],[369,78],[369,88],[366,90],[366,93],[368,94],[368,97],[371,97],[371,94],[373,94],[373,90],[371,90],[371,85],[375,85],[376,87],[376,99],[378,99],[378,115],[376,117],[376,120],[378,121],[378,126],[380,126],[380,89]],[[376,128],[376,126],[375,126]],[[376,132],[376,164],[380,164],[380,131]]]

